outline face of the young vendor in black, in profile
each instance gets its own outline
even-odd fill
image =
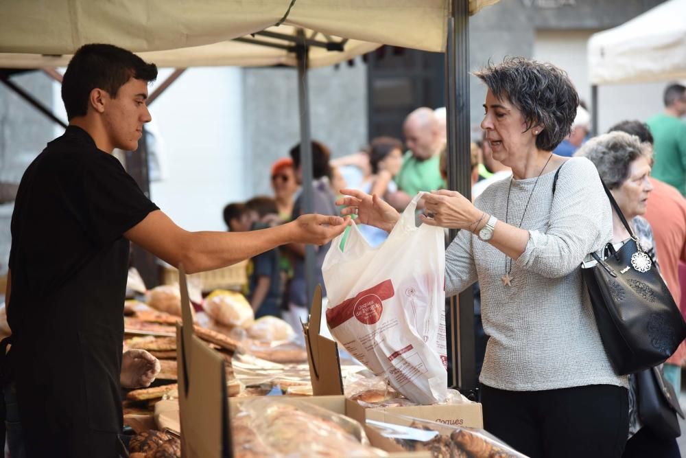
[[[113,148],[126,151],[138,149],[138,141],[143,135],[143,124],[152,117],[145,105],[147,82],[130,78],[117,91],[116,98],[106,95],[103,118],[106,133]]]

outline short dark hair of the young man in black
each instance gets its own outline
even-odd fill
[[[62,100],[67,119],[86,115],[88,96],[95,88],[117,98],[117,91],[131,78],[152,82],[157,67],[136,54],[113,45],[84,45],[69,61],[62,80]]]

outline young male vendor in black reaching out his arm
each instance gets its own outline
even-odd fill
[[[348,224],[305,215],[245,233],[176,226],[110,154],[137,149],[151,119],[147,85],[156,76],[153,64],[124,49],[80,48],[62,82],[69,127],[29,165],[19,185],[5,295],[12,346],[3,369],[11,393],[16,390],[8,415],[19,413],[27,457],[120,455],[130,241],[193,273],[279,244],[324,244]],[[139,371],[145,378],[154,369],[143,361]]]

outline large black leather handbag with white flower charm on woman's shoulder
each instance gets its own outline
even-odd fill
[[[686,337],[686,323],[650,256],[643,251],[610,190],[610,203],[631,238],[597,264],[582,265],[595,322],[605,352],[619,375],[633,374],[663,363]]]

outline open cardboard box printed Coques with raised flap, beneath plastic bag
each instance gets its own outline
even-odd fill
[[[320,335],[322,326],[322,290],[315,289],[310,308],[309,323],[303,324],[307,360],[312,381],[314,396],[332,396],[343,394],[342,373],[338,357],[338,343]],[[482,405],[477,402],[469,404],[434,404],[412,407],[379,407],[366,409],[357,402],[348,400],[348,416],[364,424],[368,418],[380,422],[393,422],[386,419],[386,413],[407,415],[410,417],[440,422],[449,426],[469,426],[483,428],[484,417]],[[346,414],[347,415],[347,414]]]

